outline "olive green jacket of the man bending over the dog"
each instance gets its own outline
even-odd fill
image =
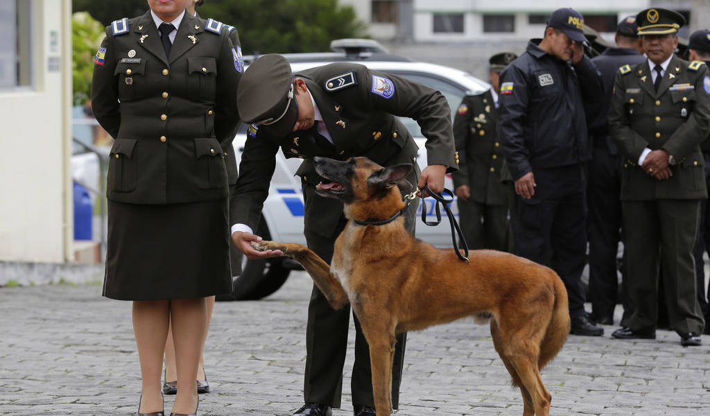
[[[427,163],[455,170],[451,110],[441,92],[351,63],[315,67],[296,76],[305,80],[334,147],[317,146],[311,131],[271,137],[251,127],[236,187],[239,223],[256,230],[278,148],[286,158],[304,159],[296,172],[304,189],[320,181],[310,160],[313,156],[339,160],[366,156],[381,165],[413,163],[416,168],[417,145],[395,115],[417,120],[427,138]],[[305,193],[305,229],[330,236],[342,215],[343,207],[337,199]]]

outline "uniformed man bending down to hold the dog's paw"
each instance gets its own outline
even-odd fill
[[[364,65],[334,63],[305,70],[295,77],[281,55],[264,55],[246,70],[237,92],[241,118],[251,123],[241,155],[237,182],[237,217],[232,240],[249,258],[278,256],[251,248],[261,237],[252,234],[268,195],[281,148],[286,158],[302,158],[296,171],[305,201],[304,234],[308,246],[330,262],[334,241],[346,224],[337,199],[316,195],[320,182],[312,157],[346,160],[366,156],[383,166],[412,163],[408,180],[434,192],[444,186],[444,172],[455,170],[457,158],[451,110],[441,92],[403,77],[369,70]],[[427,138],[429,166],[418,177],[417,145],[395,116],[417,120]],[[405,213],[414,232],[417,204]],[[332,415],[340,407],[342,366],[349,327],[349,308],[333,310],[315,285],[308,308],[305,405],[296,415]],[[395,345],[392,404],[398,407],[405,334]],[[351,380],[356,416],[374,415],[369,351],[356,321],[355,363]]]

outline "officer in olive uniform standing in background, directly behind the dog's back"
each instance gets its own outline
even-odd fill
[[[498,93],[501,71],[518,55],[504,52],[491,56],[491,89],[464,97],[454,117],[454,139],[459,170],[452,173],[458,196],[459,220],[472,250],[508,251],[510,182],[501,182],[503,152],[498,141]]]

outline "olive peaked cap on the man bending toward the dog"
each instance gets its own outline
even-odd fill
[[[288,136],[298,119],[293,73],[288,60],[271,53],[258,58],[241,76],[236,90],[239,116],[276,138]]]

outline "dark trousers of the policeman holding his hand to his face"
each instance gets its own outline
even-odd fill
[[[555,270],[569,298],[569,316],[584,314],[586,192],[581,163],[533,170],[535,195],[515,197],[515,254]],[[550,253],[552,258],[550,258]]]

